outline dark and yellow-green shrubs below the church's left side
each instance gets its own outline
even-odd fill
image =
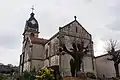
[[[31,72],[25,71],[23,75],[20,77],[20,80],[54,80],[53,70],[50,68],[44,68],[39,72],[35,70]]]

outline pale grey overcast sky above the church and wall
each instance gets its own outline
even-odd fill
[[[92,34],[96,56],[105,54],[105,41],[120,39],[120,0],[0,0],[0,63],[19,64],[22,33],[32,5],[40,37],[50,38],[77,16]]]

